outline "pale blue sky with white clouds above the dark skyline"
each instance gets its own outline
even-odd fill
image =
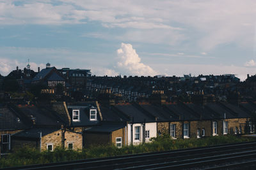
[[[256,71],[250,0],[0,0],[0,74],[47,62],[97,76]]]

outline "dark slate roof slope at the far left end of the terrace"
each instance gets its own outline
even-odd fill
[[[22,119],[7,107],[0,108],[0,131],[28,129]]]

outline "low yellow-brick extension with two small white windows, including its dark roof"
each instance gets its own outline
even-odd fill
[[[31,128],[12,135],[14,149],[24,146],[41,151],[53,151],[56,147],[81,150],[83,136],[81,133],[67,131],[67,129]]]

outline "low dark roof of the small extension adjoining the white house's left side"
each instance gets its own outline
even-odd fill
[[[125,127],[125,124],[102,124],[86,129],[85,132],[113,132]]]

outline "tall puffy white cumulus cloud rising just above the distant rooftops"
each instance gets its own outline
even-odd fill
[[[157,74],[154,69],[141,62],[141,58],[131,44],[122,43],[121,48],[116,52],[119,60],[117,62],[117,68],[122,74],[138,76],[153,76]]]

